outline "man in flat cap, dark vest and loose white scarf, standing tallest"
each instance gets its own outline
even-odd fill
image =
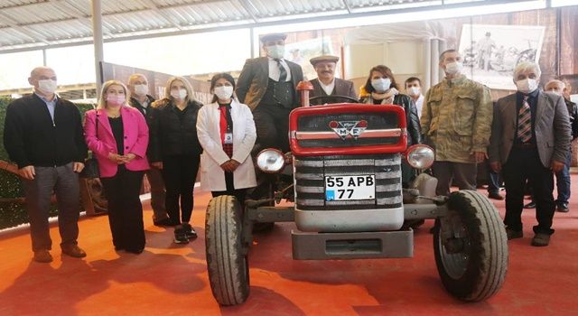
[[[237,96],[253,111],[257,143],[262,148],[289,151],[289,113],[299,107],[297,84],[303,81],[298,64],[284,60],[287,35],[261,37],[266,57],[249,59],[238,76]]]

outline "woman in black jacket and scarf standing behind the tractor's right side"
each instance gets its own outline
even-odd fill
[[[407,146],[422,144],[422,126],[419,124],[417,108],[409,96],[399,93],[393,72],[383,65],[369,70],[365,86],[361,87],[359,102],[365,104],[393,104],[404,107],[406,111]],[[402,181],[404,187],[415,178],[413,170],[406,162],[402,163]]]

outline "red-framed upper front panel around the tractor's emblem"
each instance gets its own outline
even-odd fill
[[[398,116],[395,112],[382,113],[341,113],[333,115],[312,115],[299,116],[297,131],[307,132],[331,132],[330,122],[336,121],[359,121],[365,120],[368,123],[367,131],[388,130],[399,128]],[[391,137],[361,137],[359,139],[300,139],[299,145],[304,148],[312,147],[358,147],[368,145],[390,145],[399,142],[400,135]]]

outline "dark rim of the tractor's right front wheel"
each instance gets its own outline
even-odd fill
[[[468,230],[461,221],[460,215],[455,211],[449,211],[446,218],[440,220],[438,234],[438,248],[445,272],[452,279],[460,279],[466,273],[470,263],[471,242]],[[455,243],[461,243],[460,251],[448,251],[443,240],[452,239]]]

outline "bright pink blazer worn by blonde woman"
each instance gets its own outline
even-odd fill
[[[136,158],[126,163],[126,169],[130,171],[148,170],[146,160],[146,147],[148,146],[148,126],[144,116],[133,107],[121,107],[120,114],[123,120],[125,134],[125,152],[120,154],[135,153]],[[98,115],[98,135],[96,135],[96,122]],[[117,153],[117,141],[108,123],[105,110],[90,110],[86,114],[84,123],[84,136],[89,149],[98,160],[100,176],[112,177],[117,174],[117,163],[110,161],[108,153]]]

